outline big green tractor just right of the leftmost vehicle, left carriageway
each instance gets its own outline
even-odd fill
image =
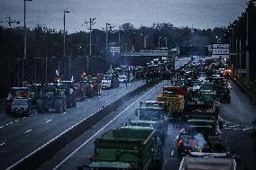
[[[36,103],[37,112],[65,112],[66,95],[63,89],[56,84],[45,84],[41,88],[41,94]]]

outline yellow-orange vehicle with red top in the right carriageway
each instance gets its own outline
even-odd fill
[[[180,86],[164,86],[157,101],[164,102],[169,115],[183,112],[185,106],[184,89]]]

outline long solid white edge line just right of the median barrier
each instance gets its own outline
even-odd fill
[[[130,109],[135,103],[139,102],[143,97],[145,97],[147,94],[151,93],[151,91],[153,91],[156,87],[153,87],[149,92],[147,92],[146,94],[143,94],[140,98],[138,98],[136,101],[134,101],[133,103],[131,103],[128,107],[126,107],[123,112],[126,112],[128,109]],[[96,135],[98,135],[101,131],[105,130],[105,128],[110,125],[113,121],[115,121],[117,118],[119,118],[123,112],[120,112],[119,114],[117,114],[114,119],[112,119],[111,121],[109,121],[108,123],[105,124],[105,126],[103,128],[101,128],[100,130],[98,130],[93,136],[91,136],[89,139],[87,139],[87,141],[85,141],[85,143],[83,143],[82,145],[80,145],[78,148],[76,148],[71,154],[69,154],[68,157],[66,157],[65,159],[63,159],[57,166],[55,166],[52,170],[56,170],[59,168],[59,166],[61,166],[62,164],[64,164],[70,157],[72,157],[76,152],[78,152],[78,150],[82,147],[84,147],[91,139],[95,138]]]

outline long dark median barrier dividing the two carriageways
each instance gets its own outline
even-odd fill
[[[105,105],[97,112],[94,112],[84,120],[79,121],[77,124],[69,128],[69,130],[65,130],[56,138],[50,139],[50,141],[41,146],[41,148],[37,148],[31,154],[23,157],[13,166],[10,166],[7,169],[30,170],[37,168],[46,160],[50,159],[50,157],[56,154],[61,148],[65,148],[72,140],[78,138],[86,130],[90,129],[93,125],[96,124],[96,122],[101,121],[102,118],[104,118],[109,112],[114,112],[114,110],[116,110],[123,102],[135,96],[136,94],[139,94],[143,90],[146,90],[152,85],[154,85],[154,83],[142,85],[132,92],[123,95],[113,103]]]

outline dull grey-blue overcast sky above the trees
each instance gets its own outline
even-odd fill
[[[247,0],[32,0],[26,2],[26,25],[37,24],[70,32],[87,31],[84,22],[96,18],[93,28],[102,29],[108,22],[118,28],[131,22],[136,28],[153,22],[170,22],[177,27],[207,29],[224,27],[246,8]],[[8,17],[23,25],[23,0],[0,0],[0,25],[8,26]]]

